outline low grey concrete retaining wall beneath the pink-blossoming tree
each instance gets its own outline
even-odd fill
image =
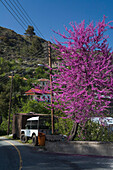
[[[93,142],[93,141],[70,141],[70,142],[50,142],[46,141],[45,147],[49,152],[113,156],[113,142]]]

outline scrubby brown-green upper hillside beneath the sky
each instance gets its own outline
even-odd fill
[[[48,63],[47,42],[34,35],[19,35],[0,27],[0,57],[15,61],[21,68],[36,68],[38,63]]]

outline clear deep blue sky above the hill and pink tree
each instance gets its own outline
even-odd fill
[[[2,0],[5,3],[5,0]],[[11,2],[17,0],[10,0]],[[113,20],[113,0],[18,0],[46,40],[55,35],[52,31],[65,31],[71,21],[86,24],[92,20],[96,23],[107,17],[106,22]],[[7,0],[7,2],[9,2]],[[9,11],[0,2],[0,26],[9,28],[18,34],[25,30],[18,24]],[[27,29],[27,27],[26,27]],[[110,36],[108,42],[113,49],[113,30],[107,32]],[[38,35],[38,34],[37,34]],[[41,35],[38,35],[41,36]],[[57,37],[58,38],[58,37]],[[59,39],[60,40],[60,39]]]

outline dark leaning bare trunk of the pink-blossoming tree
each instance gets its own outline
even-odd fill
[[[78,130],[78,123],[73,123],[73,127],[69,136],[69,141],[74,140],[77,134],[77,130]]]

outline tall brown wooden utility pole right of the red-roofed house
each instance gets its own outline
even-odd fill
[[[52,59],[51,59],[51,43],[48,41],[48,56],[49,56],[49,67],[50,67],[50,93],[51,93],[51,128],[52,134],[54,133],[54,109],[53,109],[53,91],[52,91]]]

